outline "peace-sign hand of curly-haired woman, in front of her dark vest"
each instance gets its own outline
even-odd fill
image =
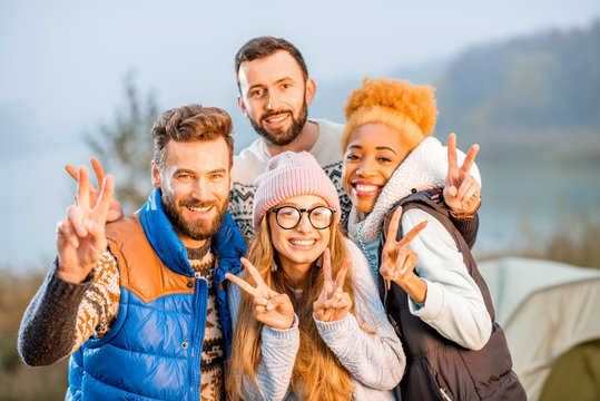
[[[416,274],[414,274],[414,266],[419,261],[419,255],[409,247],[409,244],[423,228],[425,228],[427,222],[419,223],[413,229],[404,235],[404,237],[397,241],[396,236],[400,228],[401,216],[402,207],[397,207],[390,222],[390,227],[387,228],[387,237],[385,238],[385,245],[382,250],[380,274],[383,276],[387,288],[390,288],[390,284],[393,281],[406,291],[416,302],[423,302],[425,294],[415,292],[417,288],[411,285],[414,284],[414,280],[417,278]]]

